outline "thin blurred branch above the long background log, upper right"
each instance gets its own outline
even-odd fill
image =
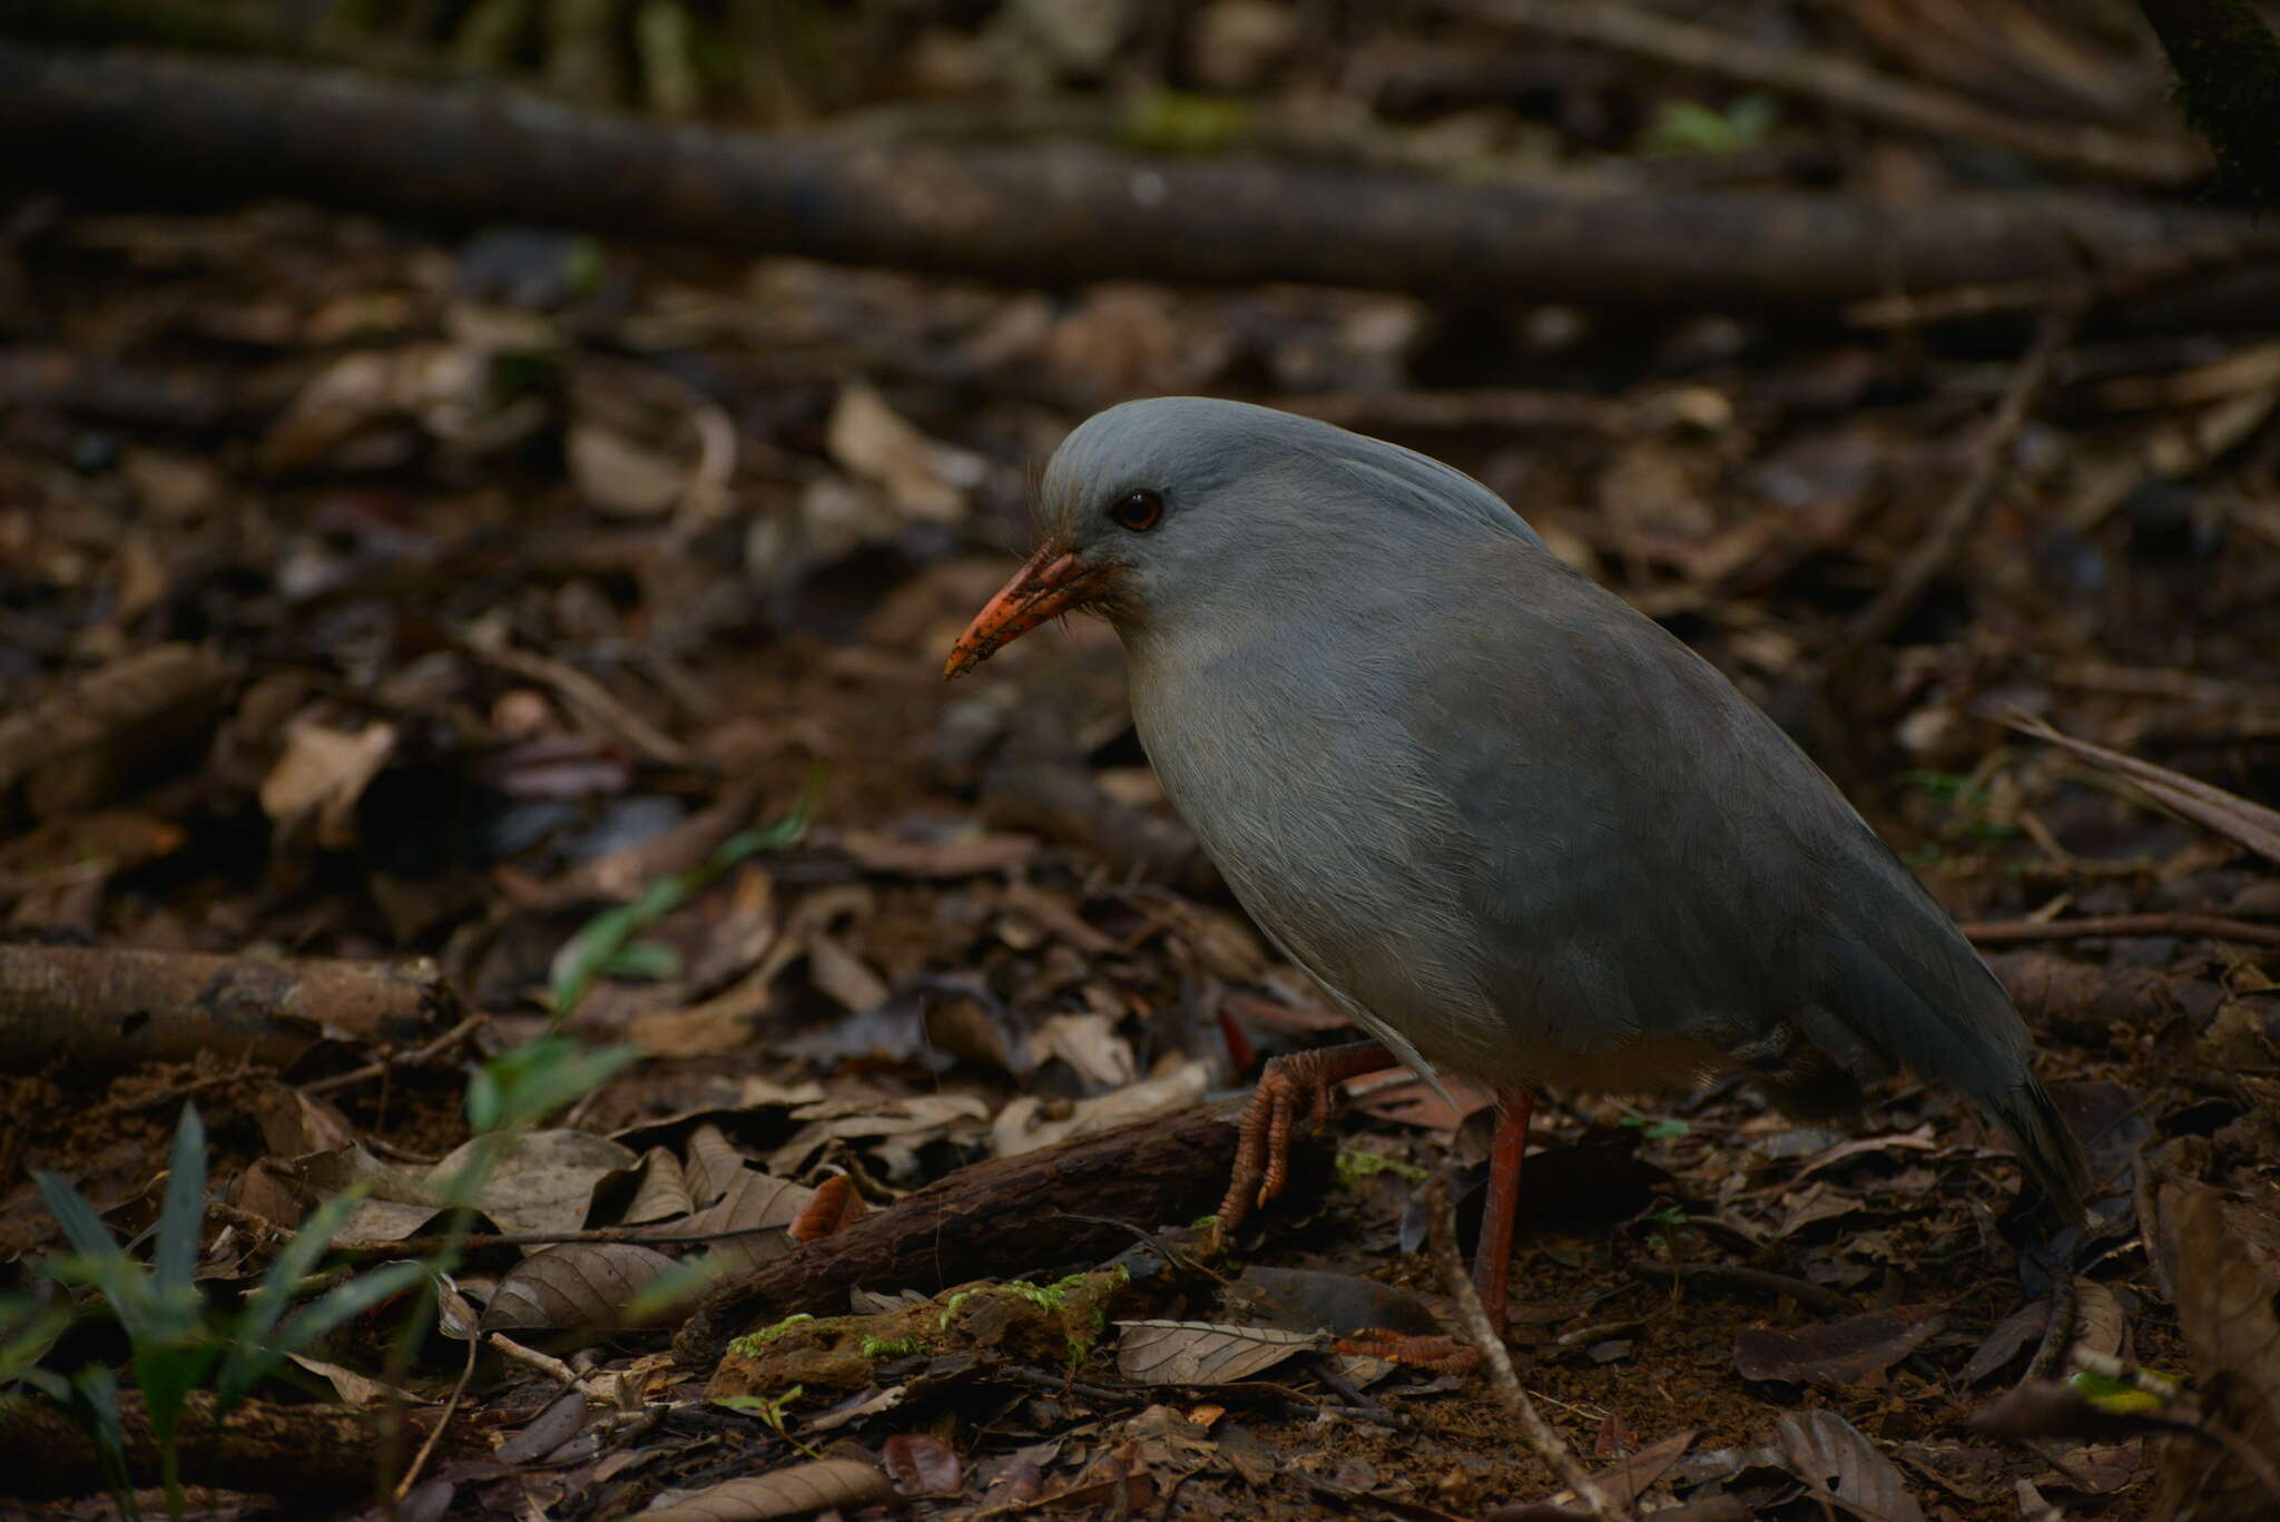
[[[1443,0],[1443,9],[1596,43],[1740,84],[1806,96],[1840,112],[1927,137],[1968,137],[2050,164],[2143,185],[2182,185],[2209,169],[2198,144],[2161,130],[2114,132],[2095,126],[2043,126],[1988,110],[1947,89],[1895,80],[1851,59],[1803,48],[1769,48],[1715,27],[1664,21],[1607,0]]]

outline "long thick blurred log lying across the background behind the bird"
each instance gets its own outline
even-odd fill
[[[287,194],[1047,285],[1316,281],[1626,306],[1826,308],[2250,228],[2061,194],[1614,196],[1085,144],[739,137],[511,94],[21,46],[0,46],[0,162],[75,189]]]

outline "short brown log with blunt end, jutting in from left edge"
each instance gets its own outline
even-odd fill
[[[317,1041],[404,1045],[449,1006],[424,956],[399,963],[260,961],[189,952],[0,945],[0,1061],[285,1066]]]

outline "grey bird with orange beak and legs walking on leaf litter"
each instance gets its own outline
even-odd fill
[[[1487,486],[1311,418],[1158,397],[1062,440],[1040,523],[946,675],[1104,614],[1165,794],[1377,1038],[1270,1063],[1222,1225],[1281,1187],[1302,1107],[1393,1061],[1503,1104],[1498,1303],[1539,1082],[1742,1070],[1829,1116],[1908,1068],[2079,1219],[2082,1152],[2027,1027],[1922,883],[1717,669]]]

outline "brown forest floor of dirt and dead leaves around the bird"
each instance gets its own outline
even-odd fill
[[[1886,139],[1842,160],[1954,173]],[[1936,1088],[1817,1125],[1742,1084],[1546,1095],[1500,1330],[1614,1515],[2280,1515],[2255,1454],[2280,1442],[2280,819],[2253,803],[2280,783],[2280,367],[2266,331],[2145,333],[2127,303],[2045,333],[2022,388],[2027,322],[999,288],[25,194],[0,217],[0,1330],[57,1303],[41,1264],[71,1246],[34,1173],[148,1255],[194,1100],[217,1317],[349,1180],[372,1193],[335,1246],[424,1264],[255,1390],[233,1422],[269,1449],[185,1449],[194,1515],[378,1515],[376,1467],[438,1424],[399,1515],[613,1517],[739,1479],[773,1488],[670,1515],[1587,1515],[1471,1358],[1361,1335],[1455,1326],[1425,1184],[1471,1232],[1480,1102],[1357,1084],[1233,1244],[1190,1230],[1218,1155],[1126,1180],[1161,1212],[1115,1230],[1017,1230],[1019,1200],[1003,1250],[864,1225],[1341,1038],[1165,805],[1104,623],[939,675],[1060,434],[1211,392],[1475,472],[1712,659],[1968,924],[2091,1152],[2098,1223],[2050,1241]],[[1974,472],[1954,550],[1860,639]],[[244,993],[269,974],[319,981]],[[513,1054],[547,1034],[641,1061],[451,1198],[470,1082],[527,1093]],[[504,1239],[600,1228],[627,1239]],[[864,1230],[894,1278],[796,1278]],[[686,1301],[638,1328],[675,1257],[643,1232],[732,1232],[775,1298],[709,1344]],[[128,1362],[75,1296],[0,1378]],[[572,1371],[591,1399],[563,1406]],[[2045,1406],[1972,1422],[2013,1387]],[[116,1515],[78,1428],[9,1399],[0,1513]]]

